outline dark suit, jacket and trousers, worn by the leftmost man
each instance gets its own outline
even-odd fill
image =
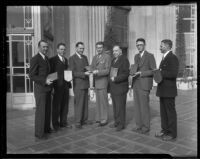
[[[30,61],[30,79],[34,83],[36,101],[35,136],[42,137],[50,130],[51,86],[46,85],[46,77],[50,73],[50,64],[38,53]]]

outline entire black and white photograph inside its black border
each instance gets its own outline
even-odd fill
[[[6,154],[197,157],[197,3],[5,15]]]

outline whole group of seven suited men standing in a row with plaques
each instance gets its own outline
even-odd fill
[[[136,127],[133,131],[147,133],[150,131],[149,94],[153,86],[153,75],[156,62],[153,54],[145,50],[145,40],[136,40],[139,51],[134,62],[137,70],[132,71],[128,58],[122,54],[119,45],[113,46],[113,57],[104,51],[104,43],[96,43],[97,54],[89,65],[87,56],[83,55],[84,43],[76,43],[76,52],[69,57],[64,56],[66,46],[57,45],[57,55],[48,59],[48,43],[44,40],[38,43],[38,54],[30,62],[30,78],[35,82],[34,95],[36,100],[35,136],[46,138],[48,133],[57,132],[62,127],[71,128],[67,122],[69,88],[74,92],[75,128],[92,124],[88,120],[88,89],[91,87],[89,76],[93,76],[96,93],[95,122],[98,126],[108,124],[108,93],[111,94],[114,122],[110,125],[116,131],[126,126],[126,99],[129,90],[129,77],[133,79],[134,107]],[[161,132],[156,133],[165,141],[177,136],[177,117],[175,96],[177,96],[176,77],[178,60],[172,53],[172,41],[161,41],[160,50],[163,59],[159,66],[162,80],[158,83],[156,95],[160,97]],[[64,71],[71,70],[72,82],[65,81]],[[114,70],[114,73],[113,73]],[[47,76],[57,72],[57,80],[52,81]],[[111,73],[112,72],[112,73]],[[53,96],[51,104],[51,95]],[[52,108],[52,110],[51,110]],[[51,116],[52,126],[51,129]]]

